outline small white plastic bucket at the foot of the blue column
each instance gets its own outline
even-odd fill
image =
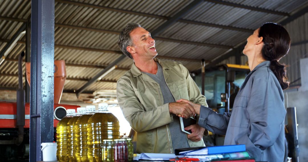
[[[57,143],[42,143],[43,161],[57,161]]]

